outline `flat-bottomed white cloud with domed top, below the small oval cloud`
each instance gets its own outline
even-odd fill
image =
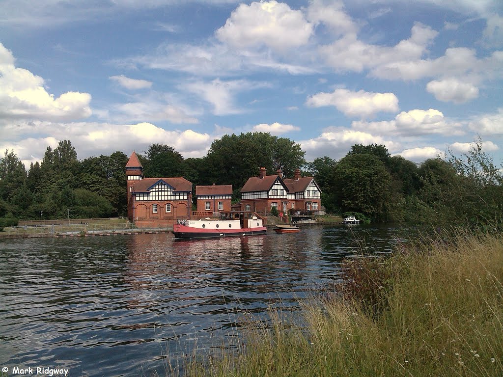
[[[355,121],[355,130],[375,132],[379,135],[420,136],[430,134],[462,135],[462,124],[450,122],[438,110],[414,109],[401,112],[394,120],[380,122]]]

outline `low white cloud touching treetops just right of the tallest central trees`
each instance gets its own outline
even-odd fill
[[[398,143],[385,140],[381,136],[345,128],[327,129],[318,137],[300,141],[299,144],[306,151],[308,161],[319,156],[336,159],[344,157],[355,144],[383,144],[386,145],[388,150],[397,150],[399,148]]]

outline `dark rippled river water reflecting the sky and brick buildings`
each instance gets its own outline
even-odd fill
[[[296,310],[310,290],[337,281],[343,258],[361,247],[389,253],[399,232],[312,226],[196,241],[172,234],[0,240],[0,367],[166,375],[185,354],[231,346],[243,316],[267,318],[275,305]]]

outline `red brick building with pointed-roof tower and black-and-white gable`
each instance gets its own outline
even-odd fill
[[[126,164],[128,218],[139,228],[167,227],[189,219],[192,182],[183,177],[144,178],[136,152]]]

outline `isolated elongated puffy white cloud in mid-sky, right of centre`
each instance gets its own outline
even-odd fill
[[[309,97],[307,106],[334,106],[348,117],[370,117],[378,112],[398,111],[398,99],[393,93],[373,93],[364,90],[336,89]]]

